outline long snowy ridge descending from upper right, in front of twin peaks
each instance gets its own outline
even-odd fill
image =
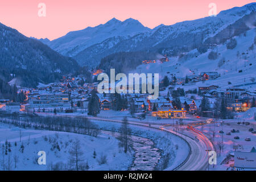
[[[81,65],[96,66],[103,57],[116,52],[150,50],[162,55],[179,55],[200,47],[204,40],[215,36],[243,16],[251,14],[255,8],[256,3],[250,3],[221,11],[217,16],[180,22],[171,26],[161,24],[151,31],[137,34],[131,38],[118,41],[104,40],[102,43],[94,44],[84,51],[80,51],[74,58]],[[102,47],[102,44],[112,46]]]

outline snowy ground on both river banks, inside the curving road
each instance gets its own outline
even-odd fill
[[[126,115],[127,113],[123,113]],[[120,115],[118,118],[121,117]],[[91,120],[96,123],[102,130],[112,130],[118,131],[121,127],[121,123],[109,122],[109,121],[98,121]],[[75,142],[76,138],[80,140],[82,155],[82,163],[89,164],[89,170],[127,170],[131,167],[133,159],[135,162],[142,162],[142,164],[148,163],[150,161],[149,156],[146,154],[152,154],[152,159],[154,164],[162,164],[164,158],[158,159],[158,150],[162,157],[168,157],[167,166],[164,167],[167,170],[174,169],[180,163],[182,163],[188,156],[189,147],[188,144],[176,135],[167,133],[166,131],[161,131],[157,129],[146,128],[143,126],[129,125],[132,131],[132,135],[136,135],[141,138],[133,139],[138,144],[134,144],[133,151],[124,154],[122,149],[119,148],[117,140],[114,135],[102,132],[97,138],[90,137],[87,135],[79,135],[73,133],[64,133],[56,131],[45,131],[45,130],[32,130],[32,129],[20,129],[11,125],[6,125],[1,123],[0,125],[0,144],[10,142],[10,153],[7,155],[2,155],[0,160],[5,158],[16,158],[18,156],[19,161],[16,164],[10,164],[12,170],[49,170],[52,169],[55,164],[59,166],[64,166],[68,164],[71,154],[69,151],[72,149],[72,144]],[[21,136],[21,137],[20,137]],[[144,139],[143,139],[144,138]],[[147,138],[147,139],[146,139]],[[142,142],[144,140],[144,142]],[[154,143],[153,143],[154,142]],[[141,143],[141,144],[139,144]],[[144,144],[148,146],[143,146]],[[24,146],[24,151],[22,152],[21,146]],[[5,152],[4,146],[2,149]],[[147,148],[146,153],[143,152],[143,148]],[[155,149],[154,149],[155,148]],[[94,150],[97,153],[97,158],[93,158]],[[135,155],[139,156],[133,158],[135,150]],[[46,151],[47,155],[47,165],[39,166],[37,155],[39,151]],[[150,152],[151,151],[151,152]],[[156,153],[155,153],[156,151]],[[98,159],[106,155],[108,159],[107,164],[98,164]],[[141,155],[145,155],[145,159],[140,159]],[[152,162],[153,163],[153,162]],[[141,164],[141,165],[142,165]],[[140,164],[137,164],[139,166]],[[143,166],[142,165],[142,166]],[[151,164],[144,165],[145,169],[153,169]],[[135,169],[138,167],[133,167]],[[5,168],[6,169],[6,168]],[[65,169],[67,167],[65,166]],[[140,169],[140,168],[138,168]]]

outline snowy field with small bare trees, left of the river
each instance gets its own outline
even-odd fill
[[[20,139],[21,133],[21,139]],[[73,133],[63,133],[56,131],[43,130],[25,130],[8,125],[0,126],[0,144],[1,144],[1,170],[3,169],[3,156],[7,169],[7,160],[10,156],[11,170],[48,170],[51,164],[67,164],[71,156],[69,151],[72,149],[73,142],[77,139],[80,141],[82,151],[82,162],[88,162],[89,170],[127,170],[132,163],[132,154],[120,152],[118,140],[110,135],[100,134],[97,138],[87,135]],[[2,145],[6,140],[11,143],[10,152],[2,155]],[[16,146],[15,146],[16,143]],[[20,146],[24,146],[22,152]],[[59,146],[59,148],[57,147]],[[93,158],[93,152],[96,151],[96,159]],[[38,152],[46,151],[46,165],[39,165]],[[107,156],[106,164],[98,164],[102,155]],[[18,157],[18,162],[14,158]]]

